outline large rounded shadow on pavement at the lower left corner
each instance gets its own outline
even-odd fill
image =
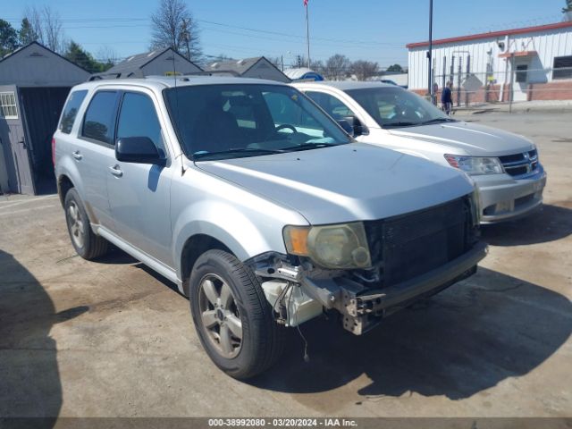
[[[52,427],[62,385],[50,329],[87,307],[55,313],[41,283],[3,250],[0,273],[0,417],[45,417],[42,426]]]

